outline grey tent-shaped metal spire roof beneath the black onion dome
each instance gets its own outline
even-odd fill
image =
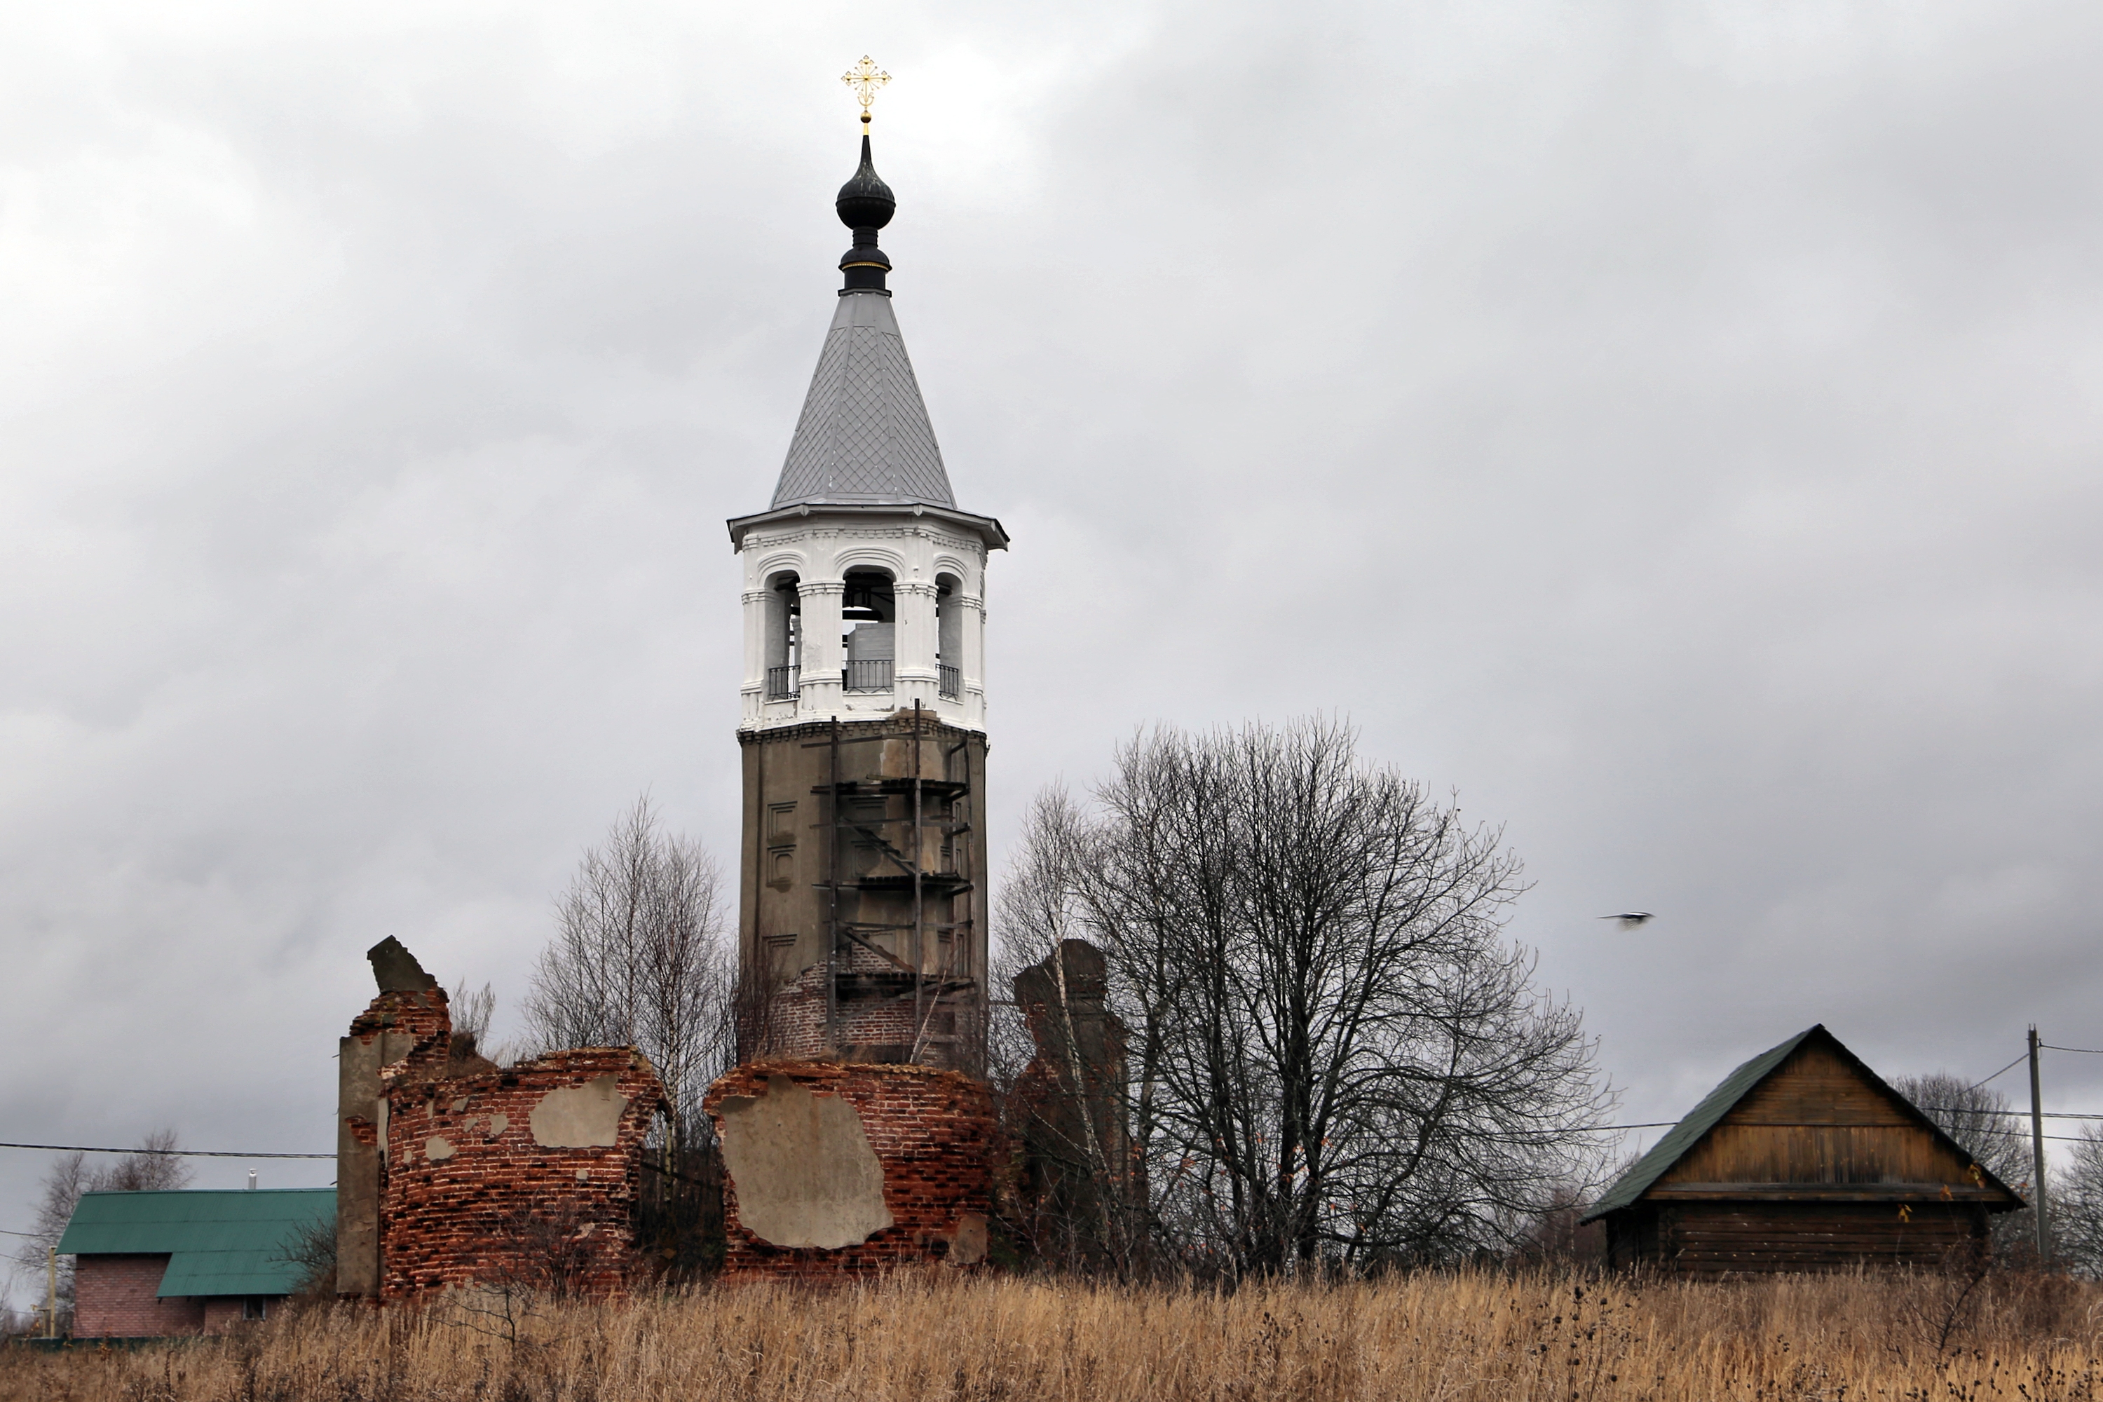
[[[885,292],[843,292],[824,334],[774,488],[799,502],[957,504]]]

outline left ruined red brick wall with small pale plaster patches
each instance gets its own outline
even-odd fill
[[[387,1068],[381,1295],[517,1284],[620,1295],[641,1150],[665,1106],[629,1047],[553,1051],[446,1078],[410,1055]]]

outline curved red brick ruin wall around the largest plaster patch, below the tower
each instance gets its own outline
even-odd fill
[[[808,1095],[814,1110],[824,1110],[816,1104],[822,1099],[852,1106],[881,1169],[881,1209],[890,1225],[835,1249],[784,1246],[753,1232],[740,1217],[740,1194],[757,1200],[774,1185],[738,1185],[740,1133],[749,1131],[736,1120],[753,1110],[768,1112],[770,1097],[793,1093]],[[726,1274],[839,1278],[936,1261],[976,1265],[984,1259],[993,1173],[1005,1156],[1005,1141],[993,1095],[982,1083],[925,1066],[755,1061],[709,1087],[707,1110],[717,1133],[726,1135],[732,1167],[723,1204]],[[799,1116],[814,1118],[801,1110],[774,1118],[793,1127]],[[753,1154],[744,1150],[742,1160],[751,1177]],[[820,1183],[812,1192],[822,1198],[835,1185]]]

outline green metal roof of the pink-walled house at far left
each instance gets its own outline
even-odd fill
[[[334,1188],[84,1192],[65,1255],[166,1255],[160,1295],[290,1295],[299,1232],[336,1217]]]

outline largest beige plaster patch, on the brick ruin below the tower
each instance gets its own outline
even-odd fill
[[[856,1246],[892,1225],[883,1162],[839,1095],[768,1076],[761,1097],[723,1099],[723,1167],[738,1223],[774,1246]]]

